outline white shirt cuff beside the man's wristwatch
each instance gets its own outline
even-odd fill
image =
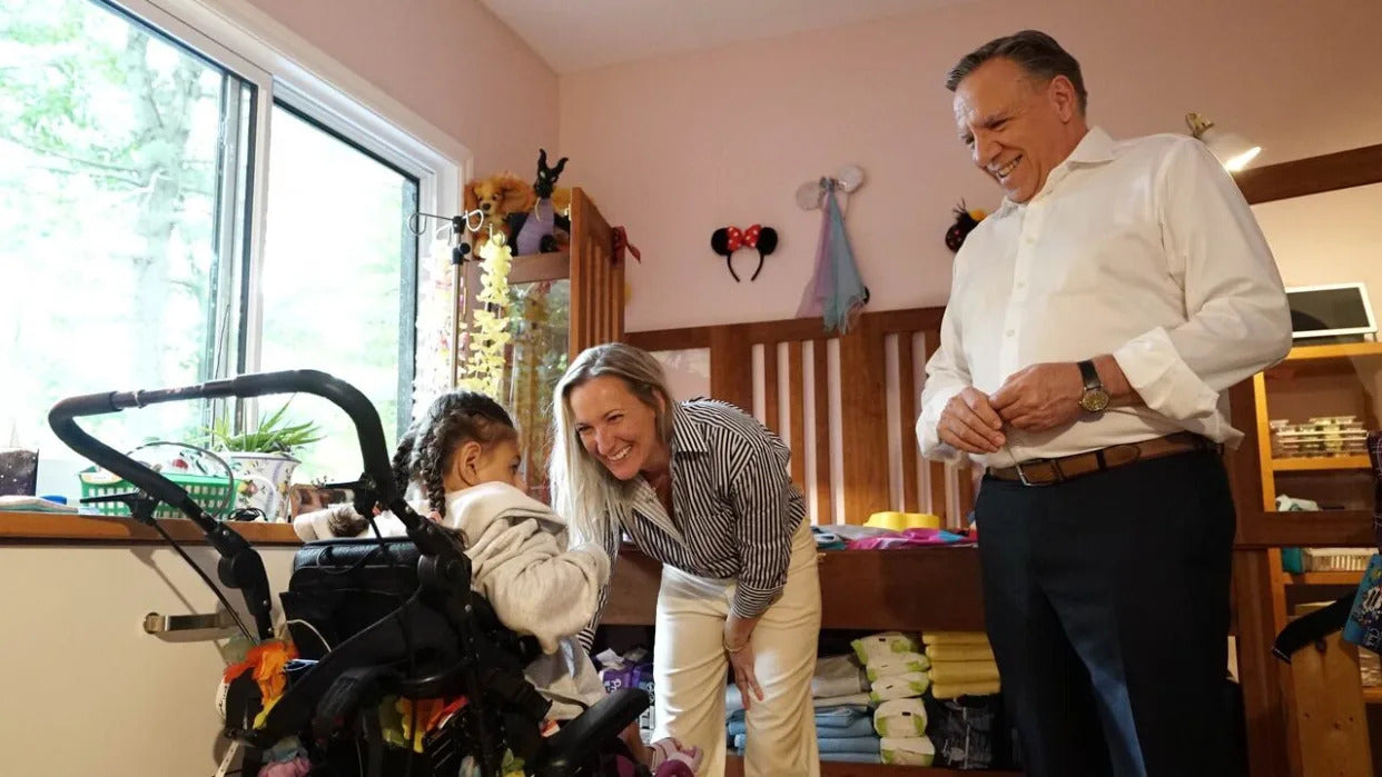
[[[1219,392],[1186,364],[1165,328],[1129,340],[1113,356],[1143,404],[1166,418],[1189,421],[1218,411]]]

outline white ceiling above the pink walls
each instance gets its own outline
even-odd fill
[[[959,0],[480,0],[557,73],[900,17]]]

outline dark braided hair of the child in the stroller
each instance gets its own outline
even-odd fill
[[[493,399],[473,391],[444,393],[398,440],[394,482],[399,493],[406,493],[413,480],[420,483],[431,509],[445,518],[446,489],[442,479],[456,450],[468,440],[488,447],[517,435],[513,418]]]

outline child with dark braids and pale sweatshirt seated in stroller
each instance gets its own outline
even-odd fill
[[[568,548],[565,520],[518,486],[521,453],[513,420],[493,399],[453,391],[435,399],[398,443],[394,479],[415,486],[431,520],[459,533],[471,560],[471,588],[485,596],[499,621],[536,638],[542,654],[525,668],[528,680],[551,702],[560,726],[604,696],[604,686],[575,635],[598,607],[609,559],[597,544]],[[359,516],[350,504],[300,515],[304,541],[406,533],[388,513]],[[622,740],[658,776],[692,774],[697,748],[665,740],[644,748],[637,726]]]

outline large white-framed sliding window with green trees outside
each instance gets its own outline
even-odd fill
[[[311,367],[363,391],[390,442],[409,420],[420,257],[406,217],[455,210],[468,153],[249,22],[202,0],[0,6],[0,446],[40,449],[40,491],[77,490],[84,462],[47,426],[75,393]],[[250,426],[285,399],[84,426],[130,450],[205,437],[216,418]],[[316,397],[287,414],[329,440],[301,451],[299,480],[358,475],[344,414]]]

